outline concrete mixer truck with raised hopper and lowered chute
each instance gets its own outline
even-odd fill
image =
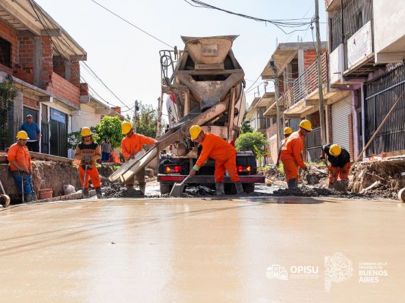
[[[159,157],[160,192],[167,194],[174,183],[184,180],[201,152],[201,147],[189,138],[191,125],[198,124],[231,144],[236,140],[246,109],[245,73],[232,52],[236,38],[182,37],[183,51],[160,51],[162,97],[167,96],[169,129],[156,139],[154,148],[110,176],[111,181],[120,178],[125,182]],[[208,159],[186,183],[214,185],[214,165],[214,160]],[[254,192],[255,183],[265,182],[265,177],[257,174],[252,150],[236,153],[236,166],[245,192]],[[229,176],[225,175],[224,183],[225,192],[235,192]]]

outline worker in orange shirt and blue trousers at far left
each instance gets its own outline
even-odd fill
[[[29,137],[25,131],[19,131],[16,135],[17,142],[8,150],[7,159],[10,163],[11,175],[17,187],[24,194],[25,202],[36,201],[36,194],[32,186],[31,156],[26,146]]]

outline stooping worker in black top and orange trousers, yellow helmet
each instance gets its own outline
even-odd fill
[[[324,160],[326,155],[328,155],[329,168],[332,172],[332,174],[329,173],[329,188],[334,187],[334,181],[340,178],[345,190],[347,190],[350,167],[352,166],[349,152],[338,144],[323,144],[322,155],[319,159]]]

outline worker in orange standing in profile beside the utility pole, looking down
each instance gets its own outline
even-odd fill
[[[312,131],[311,122],[308,120],[302,120],[299,123],[299,131],[291,133],[282,147],[280,159],[284,166],[286,181],[289,188],[297,188],[299,167],[305,171],[308,170],[302,161],[301,153],[304,148],[303,137],[305,137],[310,131]]]

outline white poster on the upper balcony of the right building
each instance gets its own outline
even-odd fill
[[[347,66],[351,68],[371,53],[373,53],[373,36],[369,21],[347,40]]]

